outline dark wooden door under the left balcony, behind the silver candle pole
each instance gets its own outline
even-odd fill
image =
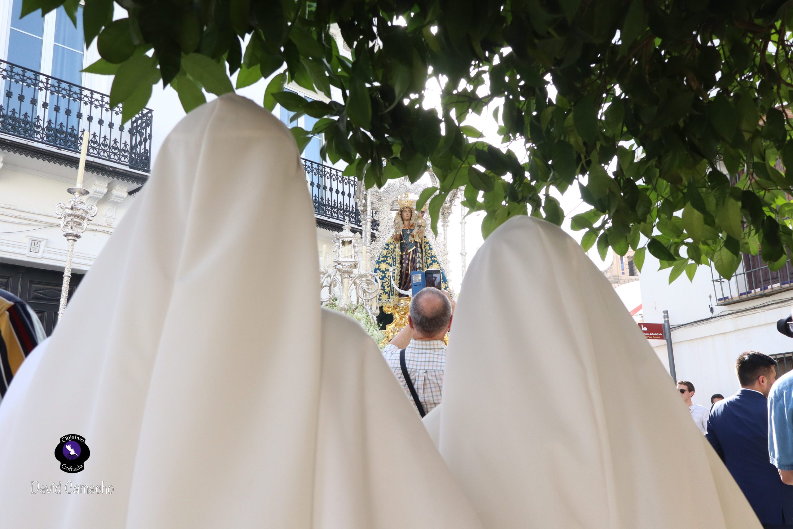
[[[70,299],[81,280],[82,274],[71,273]],[[62,284],[63,272],[0,263],[0,289],[8,290],[27,302],[39,316],[47,335],[52,333],[58,319]]]

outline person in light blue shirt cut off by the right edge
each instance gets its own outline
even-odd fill
[[[768,455],[782,481],[793,485],[793,371],[783,374],[768,394]]]

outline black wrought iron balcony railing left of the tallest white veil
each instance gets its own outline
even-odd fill
[[[151,109],[126,125],[121,106],[110,98],[71,82],[0,60],[3,97],[0,132],[79,153],[87,129],[88,155],[136,171],[151,167]]]

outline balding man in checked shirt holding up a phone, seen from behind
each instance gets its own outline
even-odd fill
[[[383,350],[416,411],[425,416],[441,403],[443,365],[451,328],[453,301],[444,290],[425,288],[410,302],[408,326]]]

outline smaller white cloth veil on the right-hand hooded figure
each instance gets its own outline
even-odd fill
[[[427,429],[488,529],[759,529],[613,287],[560,228],[477,252]]]

